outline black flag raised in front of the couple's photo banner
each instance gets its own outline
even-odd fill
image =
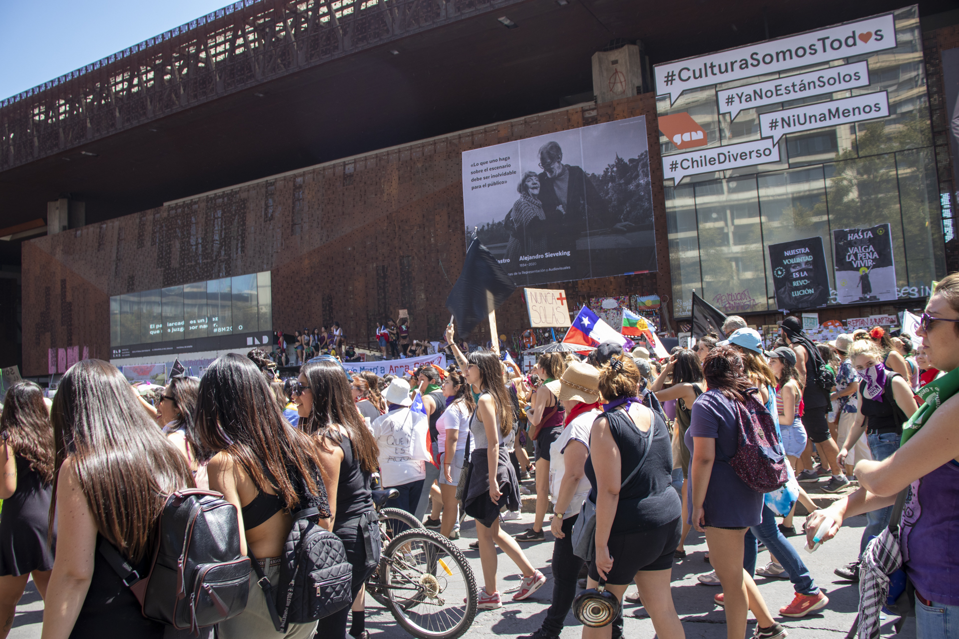
[[[463,272],[446,298],[446,309],[456,317],[460,334],[465,335],[500,308],[514,290],[516,285],[503,266],[474,237],[466,250]]]

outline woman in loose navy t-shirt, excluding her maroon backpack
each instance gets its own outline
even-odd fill
[[[686,445],[690,462],[690,523],[706,534],[710,563],[723,588],[726,634],[742,639],[747,610],[756,616],[756,637],[778,639],[786,634],[769,614],[756,582],[743,569],[746,531],[762,521],[762,493],[745,484],[725,459],[732,459],[739,445],[738,403],[750,393],[762,402],[755,385],[746,376],[742,354],[733,346],[717,346],[703,363],[709,390],[692,405]],[[718,459],[717,459],[718,458]]]

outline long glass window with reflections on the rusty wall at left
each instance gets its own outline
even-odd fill
[[[269,271],[110,298],[110,345],[272,331]]]

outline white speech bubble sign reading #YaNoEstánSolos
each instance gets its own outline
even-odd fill
[[[729,113],[730,120],[736,120],[742,109],[812,98],[858,86],[869,86],[869,64],[865,60],[723,89],[716,91],[716,100],[719,103],[719,112]]]

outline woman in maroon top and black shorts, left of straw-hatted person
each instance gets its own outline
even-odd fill
[[[559,353],[540,355],[533,373],[543,377],[543,385],[533,394],[532,412],[526,412],[533,427],[536,464],[536,515],[533,527],[516,536],[517,541],[544,541],[543,520],[550,507],[550,446],[563,432],[566,412],[559,401],[559,378],[566,370],[566,360]]]

